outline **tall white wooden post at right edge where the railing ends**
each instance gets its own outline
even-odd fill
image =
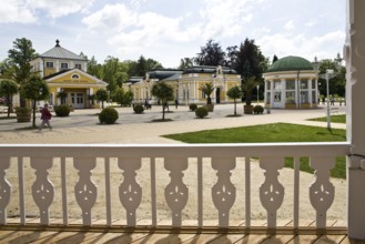
[[[365,1],[348,0],[347,11],[344,49],[347,69],[346,121],[353,154],[347,157],[347,224],[348,237],[365,240]]]

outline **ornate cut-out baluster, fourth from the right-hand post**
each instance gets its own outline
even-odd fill
[[[164,167],[170,171],[170,183],[165,187],[165,200],[172,210],[172,226],[181,226],[181,212],[189,199],[189,189],[183,182],[183,171],[187,169],[186,157],[165,157]]]

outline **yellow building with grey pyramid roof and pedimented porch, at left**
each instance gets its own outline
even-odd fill
[[[104,81],[88,74],[88,60],[62,48],[59,40],[55,41],[54,48],[32,60],[30,64],[32,71],[47,81],[51,90],[48,101],[51,105],[61,104],[57,94],[65,92],[65,104],[74,109],[92,108],[95,92],[108,85]]]

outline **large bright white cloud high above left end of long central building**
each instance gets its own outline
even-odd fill
[[[105,6],[83,18],[82,22],[92,32],[104,34],[108,43],[118,47],[120,52],[132,53],[143,48],[153,48],[158,43],[190,41],[199,35],[199,24],[182,29],[182,20],[156,12],[140,13],[118,3]]]

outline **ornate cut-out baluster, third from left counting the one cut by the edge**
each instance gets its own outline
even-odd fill
[[[98,189],[91,180],[92,172],[97,165],[95,159],[74,157],[73,166],[79,171],[79,181],[74,185],[74,196],[82,210],[82,222],[84,225],[91,225],[91,209],[97,202]]]

